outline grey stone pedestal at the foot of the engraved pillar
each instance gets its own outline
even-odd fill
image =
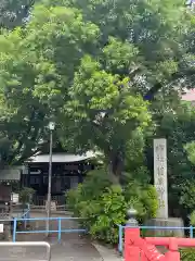
[[[160,227],[183,227],[183,220],[178,217],[169,217],[167,220],[153,219],[145,223],[145,226],[160,226]],[[157,237],[184,237],[184,229],[144,229],[143,236]]]

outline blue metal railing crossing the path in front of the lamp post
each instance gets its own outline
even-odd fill
[[[24,221],[24,222],[29,222],[29,221],[57,221],[57,229],[54,231],[48,231],[48,229],[41,229],[41,231],[17,231],[17,222],[20,221]],[[62,233],[86,233],[87,229],[84,228],[68,228],[68,229],[62,229],[62,221],[63,220],[80,220],[80,217],[35,217],[35,219],[30,219],[30,217],[21,217],[14,219],[14,223],[13,223],[13,241],[16,241],[16,234],[42,234],[42,233],[57,233],[57,239],[58,241],[61,241],[62,238]]]

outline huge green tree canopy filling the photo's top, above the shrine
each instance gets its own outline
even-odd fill
[[[25,27],[0,39],[0,94],[9,124],[20,127],[28,119],[24,133],[32,124],[32,135],[39,115],[43,137],[54,116],[64,146],[101,149],[119,176],[129,145],[150,124],[144,100],[157,91],[160,101],[172,96],[181,90],[180,79],[194,73],[191,24],[181,0],[42,0]],[[15,135],[17,140],[23,132]]]

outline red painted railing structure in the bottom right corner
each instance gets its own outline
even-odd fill
[[[165,246],[168,252],[160,253],[156,246]],[[195,247],[195,239],[176,237],[140,236],[140,228],[125,228],[125,261],[180,261],[180,247]]]

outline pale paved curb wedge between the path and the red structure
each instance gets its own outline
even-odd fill
[[[119,257],[115,249],[108,249],[98,243],[92,243],[92,245],[96,248],[103,261],[123,261],[123,258]]]

